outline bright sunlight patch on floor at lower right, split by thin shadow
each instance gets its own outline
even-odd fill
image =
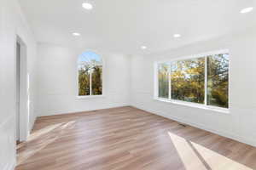
[[[237,161],[209,150],[201,144],[168,132],[186,170],[253,170]]]

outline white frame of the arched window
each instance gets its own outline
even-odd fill
[[[86,53],[86,52],[93,52],[95,54],[98,54],[101,58],[102,58],[102,94],[97,94],[97,95],[92,95],[92,89],[91,89],[91,73],[90,73],[90,95],[79,95],[79,66],[78,66],[78,59],[79,57],[76,58],[76,87],[77,87],[77,90],[76,90],[76,99],[77,100],[83,100],[83,99],[90,99],[90,98],[101,98],[101,97],[104,97],[105,95],[105,88],[104,88],[104,70],[105,70],[105,59],[103,57],[102,54],[99,54],[98,52],[96,52],[96,50],[93,50],[93,49],[87,49],[87,50],[83,50],[82,53]],[[80,54],[82,53],[79,53],[77,54],[77,56],[79,56]]]

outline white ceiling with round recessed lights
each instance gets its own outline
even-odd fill
[[[256,26],[255,0],[94,0],[91,11],[83,2],[20,0],[38,42],[125,54],[177,48]],[[240,14],[250,6],[252,13]],[[182,37],[173,38],[175,33]]]

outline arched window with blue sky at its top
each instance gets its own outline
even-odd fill
[[[94,52],[79,55],[79,96],[102,95],[102,58]]]

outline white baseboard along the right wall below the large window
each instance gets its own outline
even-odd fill
[[[209,128],[209,127],[207,127],[206,125],[203,125],[203,124],[190,122],[189,120],[183,120],[183,119],[180,119],[178,117],[171,116],[169,114],[166,115],[166,114],[160,113],[158,111],[148,110],[148,109],[145,109],[145,108],[137,106],[137,105],[132,105],[132,106],[137,107],[138,109],[141,109],[143,111],[148,111],[148,112],[153,113],[153,114],[158,115],[158,116],[166,117],[167,119],[171,119],[173,121],[182,122],[182,123],[190,125],[192,127],[197,127],[197,128],[200,128],[202,130],[206,130],[206,131],[211,132],[211,133],[216,133],[216,134],[218,134],[220,136],[223,136],[225,138],[234,139],[234,140],[239,141],[241,143],[249,144],[249,145],[252,145],[252,146],[256,147],[256,139],[248,139],[247,137],[242,137],[242,136],[239,136],[239,135],[236,135],[236,134],[233,134],[233,133],[219,131],[219,130],[216,130],[216,129]]]

